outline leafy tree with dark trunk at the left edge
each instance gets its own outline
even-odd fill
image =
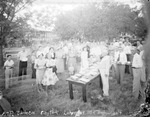
[[[3,64],[2,49],[10,41],[8,38],[24,36],[22,30],[25,29],[26,19],[18,17],[17,13],[32,2],[33,0],[0,0],[0,66]]]

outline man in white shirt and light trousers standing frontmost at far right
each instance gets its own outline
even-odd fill
[[[143,89],[141,87],[141,81],[144,81],[142,77],[143,61],[140,55],[140,50],[136,49],[136,53],[133,56],[132,69],[133,69],[133,95],[136,99],[143,95]]]

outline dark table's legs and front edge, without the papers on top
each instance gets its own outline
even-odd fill
[[[74,96],[73,96],[73,84],[75,85],[79,85],[82,87],[82,98],[83,98],[83,101],[84,102],[87,102],[87,94],[86,94],[86,87],[88,84],[90,84],[93,80],[95,80],[96,78],[99,78],[99,85],[100,85],[100,88],[102,89],[102,81],[101,81],[101,75],[100,74],[97,74],[97,75],[93,75],[93,76],[89,76],[89,81],[81,81],[80,79],[79,80],[74,80],[72,79],[71,77],[67,79],[68,83],[69,83],[69,93],[70,93],[70,99],[73,99]]]

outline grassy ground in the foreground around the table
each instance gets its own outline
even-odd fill
[[[0,72],[2,74],[0,88],[3,90],[4,82],[2,76],[4,72],[3,70]],[[69,75],[64,73],[59,74],[58,77],[60,79],[59,82],[53,90],[49,90],[48,95],[45,92],[37,93],[34,85],[35,80],[28,79],[8,90],[3,90],[4,96],[9,100],[15,111],[22,107],[24,110],[39,113],[42,110],[49,111],[54,108],[60,114],[69,110],[77,111],[80,108],[82,111],[100,110],[111,114],[121,112],[122,115],[129,115],[139,109],[139,105],[143,102],[143,100],[134,100],[132,97],[132,77],[128,74],[126,74],[122,86],[116,83],[116,79],[110,80],[110,98],[104,101],[91,100],[90,98],[93,92],[99,94],[99,84],[98,79],[96,79],[87,87],[87,103],[82,101],[80,86],[74,86],[74,100],[70,100],[68,83],[66,81]]]

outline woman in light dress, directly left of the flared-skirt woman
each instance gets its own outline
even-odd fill
[[[38,55],[38,59],[35,60],[34,68],[36,69],[36,85],[37,90],[42,90],[42,80],[46,69],[46,60],[44,58],[43,53]]]

